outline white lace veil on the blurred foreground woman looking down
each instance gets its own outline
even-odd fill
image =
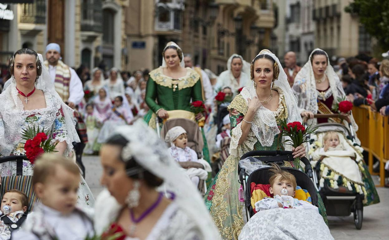
[[[219,233],[198,190],[172,159],[165,142],[158,137],[156,132],[149,128],[142,119],[138,119],[133,125],[119,126],[115,133],[129,141],[123,148],[122,158],[129,159],[133,156],[133,159],[143,168],[163,179],[163,187],[175,195],[174,202],[202,233],[198,239],[219,239]]]

